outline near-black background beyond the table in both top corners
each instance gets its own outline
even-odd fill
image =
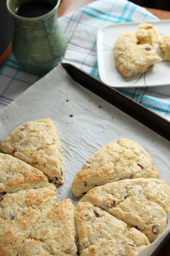
[[[170,0],[132,0],[131,2],[144,7],[170,11]],[[6,0],[0,0],[0,55],[12,40],[13,32],[14,25],[6,9]]]

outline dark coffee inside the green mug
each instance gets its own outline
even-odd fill
[[[45,0],[35,0],[23,3],[16,8],[15,13],[18,16],[26,18],[35,18],[52,11],[54,6]]]

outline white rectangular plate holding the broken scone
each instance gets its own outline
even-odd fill
[[[136,32],[141,22],[129,22],[113,24],[101,28],[97,33],[97,59],[99,75],[105,84],[117,87],[144,87],[170,85],[170,61],[156,63],[152,71],[135,75],[130,78],[123,77],[114,65],[113,47],[116,39],[121,34]],[[159,32],[160,37],[170,34],[170,20],[152,21]],[[156,45],[158,55],[163,59],[164,55]]]

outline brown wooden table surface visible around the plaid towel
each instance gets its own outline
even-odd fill
[[[66,13],[74,11],[91,2],[93,2],[93,0],[61,0],[61,4],[58,8],[58,17],[63,16]],[[160,18],[161,20],[170,19],[170,12],[168,11],[156,10],[151,8],[146,8],[146,9],[150,13]],[[3,65],[3,63],[8,58],[10,53],[11,53],[11,43],[8,45],[4,53],[0,56],[0,67]],[[170,256],[170,243],[167,243],[167,245],[163,248],[163,250],[160,253],[160,256]]]

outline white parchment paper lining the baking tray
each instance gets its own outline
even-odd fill
[[[16,126],[45,117],[54,121],[64,151],[65,184],[58,187],[61,192],[58,202],[71,198],[76,205],[79,199],[71,193],[76,172],[102,146],[120,137],[141,144],[153,157],[160,179],[170,185],[170,142],[80,86],[61,65],[0,112],[0,141]],[[169,230],[170,225],[167,228]],[[156,246],[159,240],[156,240]],[[144,253],[144,256],[151,254]]]

